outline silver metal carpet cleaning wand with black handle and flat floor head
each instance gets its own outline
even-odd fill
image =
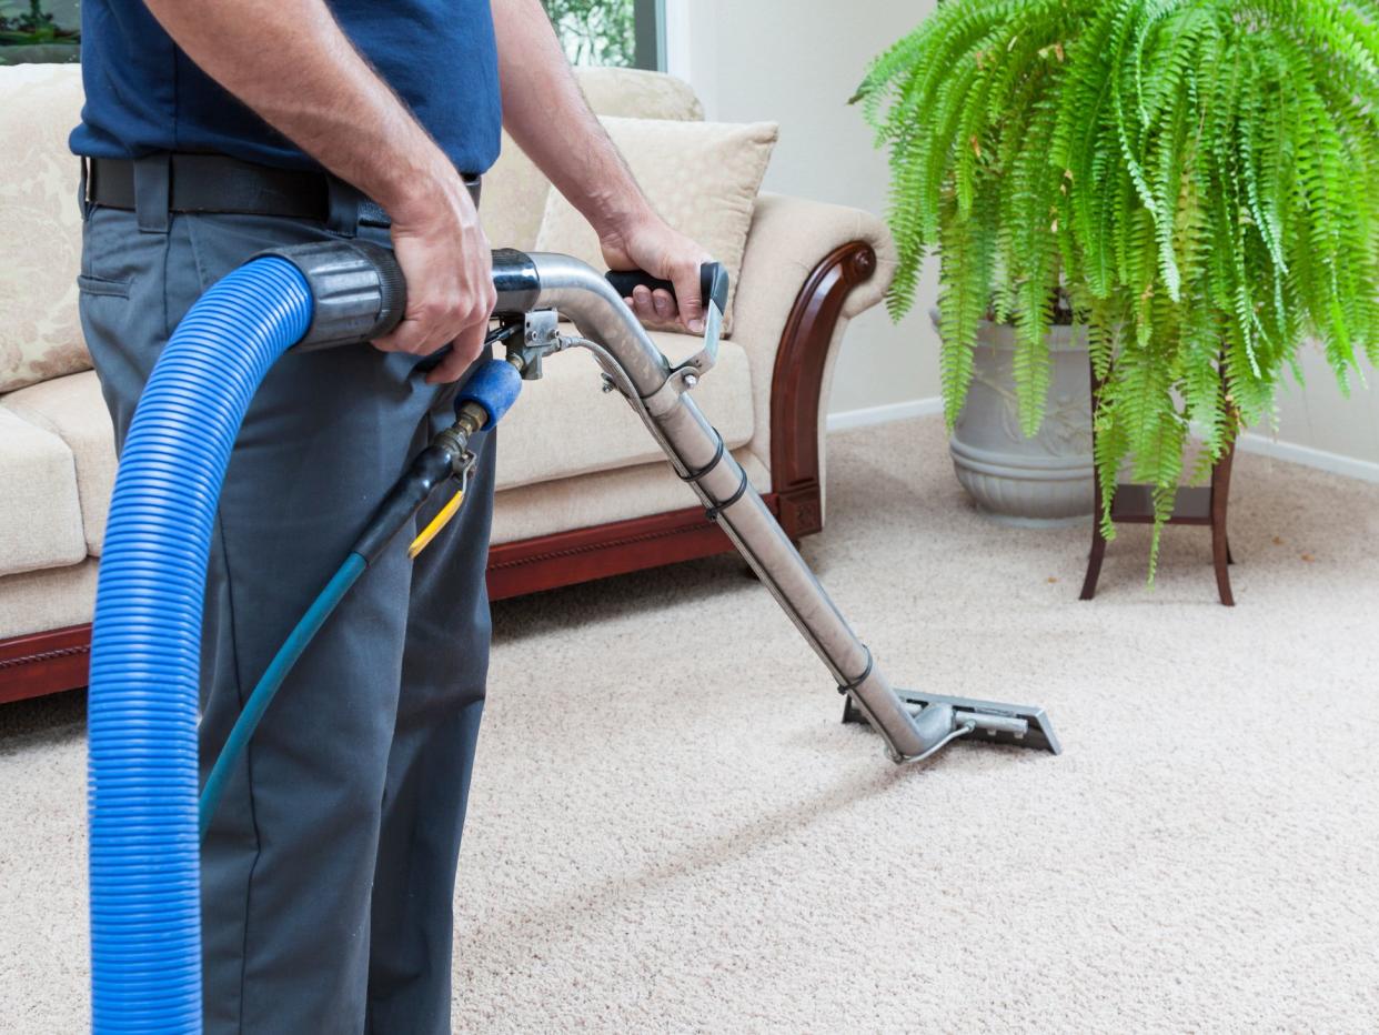
[[[583,337],[567,338],[560,348],[578,345],[593,353],[605,384],[623,395],[676,473],[698,493],[709,519],[727,533],[827,667],[848,698],[844,719],[866,719],[892,760],[918,762],[960,737],[1059,752],[1043,708],[895,690],[819,585],[723,436],[690,397],[718,355],[728,297],[721,266],[710,264],[702,273],[703,348],[677,366],[670,366],[623,304],[640,283],[673,291],[667,282],[640,273],[605,279],[568,255],[520,251],[494,253],[494,277],[499,312],[525,312],[528,320],[558,312],[574,320]]]

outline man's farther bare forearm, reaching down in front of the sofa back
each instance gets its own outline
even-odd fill
[[[492,0],[503,126],[600,230],[645,218],[636,179],[589,110],[539,0]]]

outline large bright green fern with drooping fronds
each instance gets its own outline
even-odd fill
[[[1103,493],[1154,486],[1153,556],[1189,428],[1200,479],[1305,341],[1342,386],[1379,363],[1379,0],[950,0],[854,99],[889,152],[895,319],[940,253],[949,424],[992,316],[1038,431],[1062,293]]]

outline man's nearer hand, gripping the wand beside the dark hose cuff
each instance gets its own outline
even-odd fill
[[[426,384],[458,381],[484,348],[498,302],[492,257],[479,213],[459,175],[447,167],[439,184],[404,199],[393,217],[393,250],[407,279],[407,313],[374,345],[383,352],[429,356],[454,349],[426,374]]]

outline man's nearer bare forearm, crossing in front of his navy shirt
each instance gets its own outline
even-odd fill
[[[426,185],[450,172],[324,0],[146,3],[208,76],[389,210],[423,206]]]

